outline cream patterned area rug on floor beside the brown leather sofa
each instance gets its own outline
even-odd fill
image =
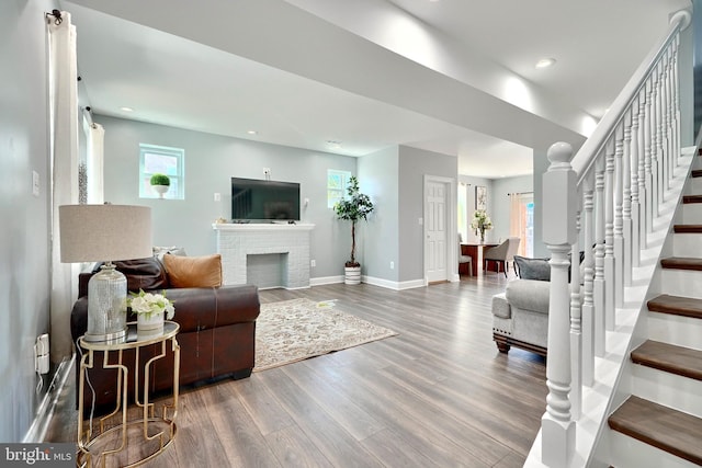
[[[396,335],[335,307],[335,300],[261,304],[256,321],[256,367],[265,370]]]

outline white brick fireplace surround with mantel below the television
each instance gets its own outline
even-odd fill
[[[222,254],[224,284],[246,284],[247,258],[280,253],[282,284],[287,289],[309,287],[310,224],[214,224]]]

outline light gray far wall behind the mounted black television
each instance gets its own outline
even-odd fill
[[[309,198],[302,221],[312,222],[312,277],[343,274],[351,249],[351,229],[327,208],[327,170],[355,173],[356,159],[123,118],[95,115],[105,128],[105,201],[151,206],[154,243],[181,246],[191,255],[216,251],[212,222],[231,217],[230,178],[299,182],[301,198]],[[185,199],[138,197],[139,144],[185,150]],[[220,193],[222,201],[214,202]]]

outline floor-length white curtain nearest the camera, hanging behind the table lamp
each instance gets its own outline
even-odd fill
[[[61,20],[47,15],[49,152],[52,178],[52,361],[61,362],[71,355],[70,310],[77,292],[75,271],[60,261],[58,207],[78,203],[78,77],[76,66],[76,28],[70,14]]]

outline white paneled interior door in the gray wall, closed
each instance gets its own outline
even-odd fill
[[[424,232],[427,239],[424,259],[429,282],[449,279],[446,265],[446,251],[449,250],[446,242],[450,239],[446,230],[448,186],[443,182],[426,181]]]

